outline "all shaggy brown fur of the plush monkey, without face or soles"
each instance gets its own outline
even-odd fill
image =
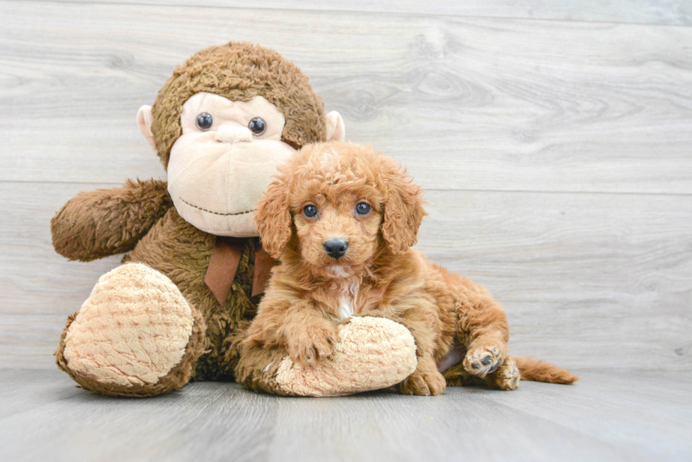
[[[182,133],[182,105],[198,92],[215,93],[233,101],[249,101],[261,95],[285,116],[282,140],[296,148],[326,140],[323,104],[299,68],[275,51],[232,42],[192,56],[175,69],[160,90],[153,105],[152,132],[165,167],[170,149]],[[179,216],[164,181],[128,181],[121,188],[80,193],[57,212],[51,231],[56,251],[70,260],[89,261],[131,251],[123,262],[141,262],[165,274],[189,301],[195,319],[205,322],[205,329],[195,331],[197,340],[191,342],[185,364],[171,372],[172,378],[142,389],[121,390],[71,374],[84,388],[145,396],[179,388],[191,375],[197,380],[233,378],[239,339],[260,298],[252,296],[256,239],[245,241],[231,291],[221,306],[204,282],[216,236],[196,229]],[[71,373],[63,351],[61,342],[56,351],[57,363]],[[201,351],[205,353],[196,360]],[[265,356],[263,364],[272,357]]]

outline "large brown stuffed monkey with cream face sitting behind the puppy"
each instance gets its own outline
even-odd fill
[[[79,193],[51,221],[54,247],[70,260],[128,253],[68,317],[55,353],[61,370],[117,396],[232,380],[240,362],[257,387],[289,395],[351,394],[410,375],[413,338],[383,318],[345,324],[320,367],[270,349],[241,358],[275,264],[256,237],[256,201],[295,150],[345,133],[294,64],[247,43],[199,51],[137,121],[167,181]]]

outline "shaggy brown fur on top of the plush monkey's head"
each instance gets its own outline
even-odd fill
[[[261,96],[284,114],[282,141],[295,149],[326,140],[324,104],[308,78],[276,51],[251,43],[230,42],[198,51],[173,71],[152,106],[151,127],[164,165],[182,134],[180,114],[192,95],[208,92],[231,101]]]

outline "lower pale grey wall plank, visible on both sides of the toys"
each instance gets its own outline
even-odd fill
[[[68,314],[118,257],[56,255],[49,219],[91,185],[0,183],[0,364],[52,367]],[[484,284],[511,348],[566,367],[692,368],[692,197],[429,191],[418,248]]]

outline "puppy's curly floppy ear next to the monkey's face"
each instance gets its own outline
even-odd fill
[[[291,211],[288,207],[288,181],[275,179],[267,194],[258,202],[255,221],[263,248],[279,258],[291,238]]]

